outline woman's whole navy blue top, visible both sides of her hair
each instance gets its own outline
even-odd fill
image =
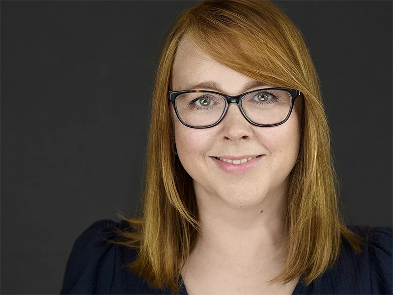
[[[123,220],[100,220],[77,238],[65,269],[60,295],[171,295],[170,289],[156,290],[128,267],[136,251],[105,240],[124,229]],[[354,252],[343,239],[335,266],[305,287],[299,280],[293,295],[393,295],[393,228],[350,226],[365,236],[362,253]],[[181,278],[180,278],[181,279]],[[187,295],[184,284],[181,295]]]

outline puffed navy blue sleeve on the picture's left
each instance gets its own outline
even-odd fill
[[[114,276],[116,223],[100,220],[79,236],[71,250],[60,295],[110,295]]]

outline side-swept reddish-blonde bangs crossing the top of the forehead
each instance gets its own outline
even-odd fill
[[[213,59],[271,86],[300,90],[307,85],[302,90],[309,90],[303,60],[307,48],[277,7],[268,2],[253,9],[243,1],[208,1],[186,14],[182,35]]]

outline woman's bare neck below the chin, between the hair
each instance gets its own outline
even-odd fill
[[[200,188],[196,199],[202,234],[198,234],[191,255],[212,263],[245,266],[283,255],[286,189],[280,188],[249,207],[231,207]]]

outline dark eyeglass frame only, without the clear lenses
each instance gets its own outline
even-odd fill
[[[255,122],[253,122],[250,118],[247,117],[246,113],[243,110],[243,107],[241,105],[242,99],[243,97],[245,97],[246,95],[252,93],[252,92],[258,92],[258,91],[266,91],[266,90],[284,90],[286,92],[289,93],[289,95],[291,96],[291,107],[289,109],[289,113],[286,116],[285,119],[283,119],[281,122],[279,123],[275,123],[275,124],[257,124]],[[196,126],[191,126],[189,124],[187,124],[185,121],[182,120],[182,118],[180,118],[179,113],[177,112],[177,107],[176,107],[176,99],[179,95],[184,94],[184,93],[192,93],[192,92],[204,92],[204,93],[213,93],[213,94],[218,94],[220,96],[223,96],[225,98],[225,109],[223,112],[223,115],[221,115],[221,117],[218,119],[217,122],[215,122],[212,125],[208,125],[208,126],[203,126],[203,127],[196,127]],[[295,103],[295,99],[301,94],[301,92],[299,90],[295,90],[295,89],[290,89],[290,88],[279,88],[279,87],[274,87],[274,88],[263,88],[263,89],[257,89],[257,90],[252,90],[252,91],[248,91],[245,93],[242,93],[240,95],[237,96],[228,96],[225,95],[223,93],[220,92],[216,92],[216,91],[209,91],[209,90],[180,90],[180,91],[168,91],[168,100],[172,103],[173,108],[175,110],[176,116],[179,119],[180,122],[182,122],[183,125],[190,127],[190,128],[196,128],[196,129],[203,129],[203,128],[210,128],[213,127],[215,125],[217,125],[218,123],[220,123],[223,118],[226,115],[226,112],[228,110],[228,106],[230,103],[234,102],[239,106],[240,112],[242,113],[243,117],[249,121],[251,124],[255,125],[255,126],[259,126],[259,127],[273,127],[273,126],[278,126],[281,125],[283,123],[285,123],[288,118],[291,116],[292,113],[292,109],[293,109],[293,105]]]

